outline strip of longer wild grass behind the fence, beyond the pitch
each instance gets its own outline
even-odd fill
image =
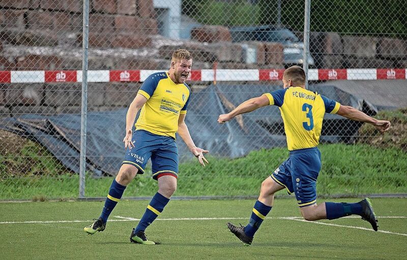
[[[407,154],[401,149],[340,143],[323,144],[319,149],[323,164],[318,177],[319,195],[407,192]],[[276,148],[252,151],[238,159],[209,156],[210,164],[205,168],[196,161],[182,163],[175,196],[257,195],[261,182],[287,157],[285,148]],[[112,179],[86,177],[85,195],[106,196]],[[72,174],[3,178],[0,199],[76,198],[78,187],[79,178]],[[152,196],[157,189],[157,182],[146,173],[130,183],[124,196]]]

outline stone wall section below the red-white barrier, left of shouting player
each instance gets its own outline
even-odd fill
[[[141,83],[88,83],[88,111],[128,107]],[[0,85],[0,118],[26,113],[80,113],[81,83],[13,83]]]

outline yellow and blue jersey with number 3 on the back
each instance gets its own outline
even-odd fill
[[[316,147],[325,113],[336,113],[340,104],[300,86],[265,93],[279,107],[289,151]]]

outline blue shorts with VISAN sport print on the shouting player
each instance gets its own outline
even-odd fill
[[[132,142],[135,147],[127,149],[122,164],[134,165],[137,174],[143,174],[151,158],[154,180],[165,175],[178,178],[178,148],[174,138],[136,130]]]

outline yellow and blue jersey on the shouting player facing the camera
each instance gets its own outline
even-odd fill
[[[174,83],[167,72],[158,72],[150,75],[137,93],[147,102],[140,110],[136,130],[175,138],[180,114],[187,113],[189,86]]]

